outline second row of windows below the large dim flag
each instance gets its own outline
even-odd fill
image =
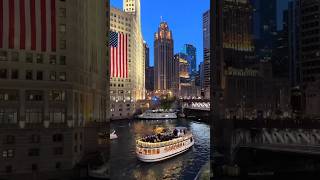
[[[57,81],[57,80],[66,81],[67,80],[66,76],[67,76],[66,72],[50,71],[48,75],[48,79],[50,81]],[[11,69],[11,71],[9,72],[8,69],[1,68],[0,79],[21,79],[20,72],[18,69]],[[26,70],[24,79],[42,81],[44,80],[44,71]]]

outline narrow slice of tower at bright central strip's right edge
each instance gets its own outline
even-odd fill
[[[206,99],[210,99],[210,10],[202,16],[203,26],[203,83],[201,88],[206,92]],[[201,78],[202,79],[202,78]]]

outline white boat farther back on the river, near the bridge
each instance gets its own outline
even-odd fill
[[[139,119],[177,119],[177,114],[173,111],[165,110],[147,110],[141,115],[138,115]]]

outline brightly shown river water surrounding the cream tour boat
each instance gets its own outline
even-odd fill
[[[178,126],[192,131],[195,144],[191,149],[156,163],[144,163],[136,158],[136,138],[151,134],[156,127]],[[111,179],[193,180],[210,158],[210,126],[205,123],[187,119],[114,121],[110,129],[118,135],[118,139],[111,140]]]

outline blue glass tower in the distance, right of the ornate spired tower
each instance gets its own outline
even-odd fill
[[[194,78],[197,74],[197,49],[191,44],[185,44],[182,48],[182,53],[187,55],[189,67],[189,74],[191,78]]]

